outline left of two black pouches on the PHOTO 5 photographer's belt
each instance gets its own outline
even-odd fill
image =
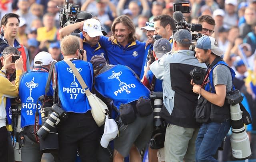
[[[131,124],[136,119],[134,106],[129,104],[121,104],[119,107],[120,118],[124,125]]]

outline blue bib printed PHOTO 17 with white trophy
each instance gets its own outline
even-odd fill
[[[84,82],[92,90],[92,64],[82,60],[73,60],[72,63],[82,76]],[[55,64],[58,80],[58,95],[60,106],[66,112],[86,113],[90,105],[85,91],[74,76],[72,69],[64,61]]]

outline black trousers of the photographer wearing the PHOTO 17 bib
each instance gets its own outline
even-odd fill
[[[99,128],[90,111],[85,114],[69,112],[68,118],[58,126],[58,134],[61,162],[74,162],[77,150],[82,162],[96,162]]]

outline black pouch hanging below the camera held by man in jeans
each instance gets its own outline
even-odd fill
[[[194,112],[194,116],[197,122],[205,123],[209,122],[211,113],[211,103],[203,96],[200,96]]]

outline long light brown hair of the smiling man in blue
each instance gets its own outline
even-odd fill
[[[122,23],[124,26],[127,26],[128,30],[131,31],[128,37],[128,42],[135,41],[136,40],[135,27],[132,20],[126,15],[121,15],[118,18],[116,18],[111,26],[111,31],[113,34],[115,33],[115,27],[116,27],[116,24],[118,23]]]

